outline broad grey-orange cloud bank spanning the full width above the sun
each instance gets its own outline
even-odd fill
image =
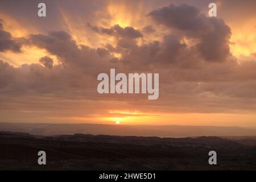
[[[51,105],[55,104],[52,108],[61,107],[69,114],[77,109],[76,104],[71,104],[71,109],[63,105],[63,100],[68,100],[69,104],[82,102],[79,106],[81,115],[84,110],[91,114],[99,107],[103,112],[107,107],[116,109],[120,104],[123,104],[122,109],[133,107],[135,110],[183,113],[256,109],[255,62],[238,64],[238,60],[230,55],[231,31],[224,20],[208,18],[189,5],[153,10],[148,16],[151,18],[153,25],[143,25],[144,28],[139,30],[119,25],[104,28],[88,24],[99,37],[116,38],[114,44],[102,47],[81,44],[72,32],[64,30],[28,36],[26,46],[46,50],[47,55],[56,56],[60,64],[53,65],[48,56],[39,60],[44,66],[24,64],[15,68],[0,61],[0,97],[6,102],[11,97],[15,103],[15,98],[20,101],[22,96],[24,109],[33,109],[35,105],[42,109],[51,100]],[[161,31],[161,24],[168,31]],[[154,34],[160,34],[162,39],[143,42],[147,35]],[[11,36],[9,39],[15,42]],[[142,40],[141,44],[139,40]],[[189,44],[190,41],[195,44]],[[114,53],[121,57],[117,59]],[[134,94],[98,94],[97,75],[109,73],[110,68],[123,73],[159,73],[159,99],[152,105],[146,97]],[[34,97],[40,101],[34,103]],[[30,106],[27,106],[26,98],[30,98]],[[108,104],[102,104],[104,102]],[[14,107],[11,103],[6,105]]]

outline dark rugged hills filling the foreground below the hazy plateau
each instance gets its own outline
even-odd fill
[[[1,170],[255,170],[256,137],[42,136],[0,132]],[[38,164],[38,151],[47,164]],[[217,165],[208,152],[217,152]]]

